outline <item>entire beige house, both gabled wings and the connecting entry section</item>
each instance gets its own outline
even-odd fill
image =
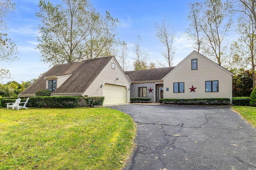
[[[53,66],[19,96],[49,89],[52,96],[104,96],[104,105],[130,98],[230,98],[234,74],[193,51],[175,67],[124,72],[115,57]]]

